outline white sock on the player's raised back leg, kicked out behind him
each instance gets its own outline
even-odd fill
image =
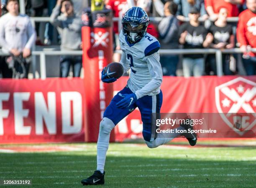
[[[184,127],[179,126],[177,129],[174,129],[174,130],[184,130]],[[150,148],[158,147],[159,145],[164,145],[170,142],[171,140],[173,140],[179,135],[182,135],[182,133],[176,133],[176,131],[174,131],[174,133],[158,133],[157,138],[154,141],[152,142],[146,141],[146,144]]]

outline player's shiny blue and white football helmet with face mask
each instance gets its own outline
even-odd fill
[[[122,19],[123,34],[130,43],[135,43],[146,35],[148,23],[148,14],[142,8],[130,8]]]

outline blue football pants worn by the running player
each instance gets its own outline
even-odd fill
[[[156,138],[155,129],[152,130],[151,119],[152,113],[160,113],[160,109],[163,102],[163,94],[160,91],[159,94],[153,96],[144,96],[137,100],[137,102],[129,108],[120,109],[116,106],[116,103],[123,99],[119,94],[132,94],[133,92],[128,86],[125,86],[124,89],[118,92],[115,97],[112,99],[108,107],[106,108],[103,117],[111,119],[116,125],[120,122],[125,116],[133,112],[136,107],[141,112],[141,120],[143,122],[143,131],[142,135],[144,140],[150,142]]]

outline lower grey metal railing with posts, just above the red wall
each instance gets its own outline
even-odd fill
[[[252,49],[256,53],[256,48]],[[115,51],[121,53],[121,50]],[[170,54],[215,54],[216,57],[216,66],[217,66],[217,75],[223,76],[222,69],[222,54],[223,53],[242,53],[239,48],[233,49],[160,49],[159,53],[161,55],[170,55]],[[73,55],[81,56],[82,51],[32,51],[32,56],[40,56],[40,76],[41,79],[46,79],[46,56],[61,56],[61,55]],[[0,51],[0,56],[7,56],[8,53],[3,53]],[[32,64],[35,66],[35,64]],[[32,70],[35,71],[35,68],[32,67]],[[33,72],[35,75],[35,72]]]

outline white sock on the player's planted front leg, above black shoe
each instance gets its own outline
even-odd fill
[[[115,124],[107,117],[104,117],[100,122],[100,132],[97,142],[97,170],[100,170],[101,173],[104,172],[110,132],[114,127]]]

